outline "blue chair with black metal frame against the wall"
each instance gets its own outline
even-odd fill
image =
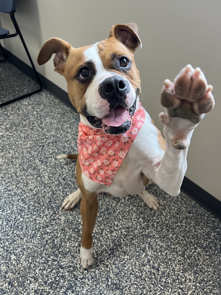
[[[24,46],[24,49],[25,49],[25,51],[27,53],[27,56],[28,56],[28,58],[30,60],[30,63],[32,65],[34,74],[35,74],[35,76],[37,78],[37,81],[38,81],[38,84],[39,84],[40,88],[37,89],[37,90],[35,90],[35,91],[33,91],[33,92],[30,92],[28,94],[24,94],[22,96],[19,96],[19,97],[15,98],[15,99],[11,99],[9,101],[6,101],[6,102],[0,104],[0,107],[1,106],[4,106],[6,104],[10,104],[11,102],[17,101],[19,99],[23,99],[23,98],[25,98],[25,97],[27,97],[27,96],[29,96],[31,94],[37,93],[37,92],[39,92],[39,91],[42,90],[42,82],[41,82],[41,80],[40,80],[40,78],[38,76],[38,73],[37,73],[37,71],[36,71],[36,69],[34,67],[34,63],[32,61],[32,58],[31,58],[31,56],[29,54],[29,51],[28,51],[28,48],[27,48],[27,46],[26,46],[26,44],[24,42],[24,39],[22,37],[22,33],[21,33],[21,31],[19,29],[19,26],[18,26],[18,24],[16,22],[16,19],[14,17],[14,13],[16,11],[16,4],[17,4],[17,0],[0,0],[0,12],[4,12],[4,13],[9,13],[10,14],[11,21],[12,21],[14,27],[15,27],[15,30],[16,30],[16,32],[14,34],[9,34],[9,31],[8,30],[5,30],[2,27],[0,27],[0,40],[1,39],[6,39],[6,38],[16,37],[17,35],[19,35],[19,37],[20,37],[20,39],[22,41],[22,44]],[[7,55],[6,55],[5,51],[4,51],[4,48],[1,46],[1,44],[0,44],[0,49],[1,49],[2,53],[3,53],[3,55],[4,55],[4,59],[0,60],[0,62],[4,62],[7,59]]]

